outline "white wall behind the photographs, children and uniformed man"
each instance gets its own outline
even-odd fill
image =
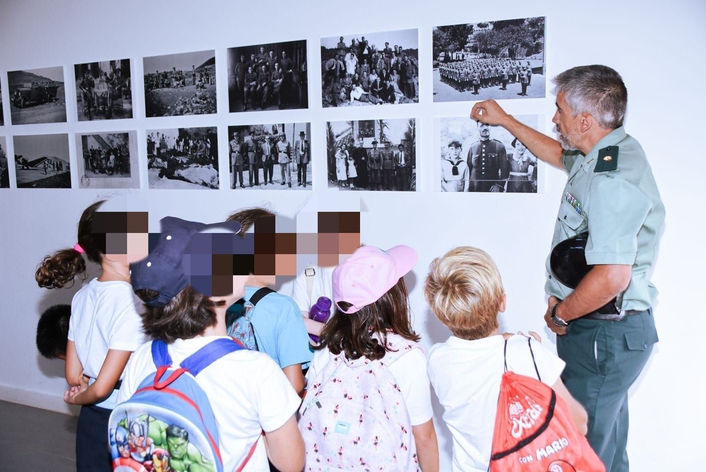
[[[337,2],[336,2],[337,3]],[[702,1],[626,2],[405,1],[352,2],[337,11],[332,2],[217,1],[49,1],[0,0],[0,75],[5,121],[9,121],[6,72],[64,66],[68,123],[0,127],[0,135],[137,130],[140,166],[145,169],[145,129],[217,125],[221,168],[227,169],[227,126],[246,123],[311,121],[313,180],[316,196],[335,204],[354,204],[360,196],[369,210],[362,238],[377,246],[407,243],[419,252],[411,291],[415,327],[425,346],[448,332],[429,315],[421,284],[429,261],[462,244],[487,250],[498,262],[508,292],[505,329],[543,328],[544,258],[561,197],[564,176],[548,169],[539,195],[476,195],[433,192],[436,165],[434,119],[463,116],[470,104],[433,104],[431,29],[482,20],[546,16],[546,70],[549,77],[580,64],[616,68],[629,95],[626,128],[647,152],[666,205],[666,225],[653,280],[661,294],[655,310],[661,341],[630,397],[633,413],[629,451],[635,471],[677,470],[695,464],[702,447],[700,395],[703,380],[699,341],[706,329],[699,295],[703,293],[701,229],[705,198],[700,167],[705,109],[703,93],[706,4]],[[394,107],[321,109],[319,39],[349,33],[419,28],[421,100]],[[227,113],[226,48],[306,38],[309,41],[309,110]],[[143,56],[215,49],[216,116],[144,119]],[[128,121],[76,122],[71,80],[73,64],[128,57],[133,61],[136,97]],[[551,130],[554,97],[508,101],[513,114],[543,114]],[[329,191],[325,177],[327,120],[416,117],[419,142],[415,194]],[[70,140],[76,162],[75,140]],[[8,139],[8,156],[13,155]],[[76,167],[71,166],[75,171]],[[222,174],[222,181],[227,181]],[[76,176],[73,184],[76,187]],[[143,177],[143,188],[146,186]],[[71,300],[74,289],[48,291],[34,282],[35,267],[50,251],[71,246],[80,212],[98,195],[94,190],[0,190],[0,399],[64,409],[61,363],[44,361],[35,349],[37,317],[48,305]],[[270,201],[282,214],[294,215],[307,198],[301,192],[135,190],[150,211],[150,229],[174,214],[210,222],[244,205]],[[309,193],[311,195],[311,193]],[[693,413],[692,413],[693,412]],[[441,420],[437,409],[435,419]],[[469,418],[470,419],[470,418]],[[442,470],[448,470],[450,440],[440,428]]]

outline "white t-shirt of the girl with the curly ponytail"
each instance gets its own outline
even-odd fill
[[[135,351],[147,341],[132,286],[119,280],[93,279],[76,292],[71,301],[68,339],[76,345],[83,374],[95,381],[109,349]],[[122,378],[125,374],[121,374]],[[111,397],[98,404],[112,409]]]

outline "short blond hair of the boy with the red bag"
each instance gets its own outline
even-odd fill
[[[480,339],[498,329],[505,290],[495,262],[484,250],[460,246],[436,258],[424,281],[424,298],[456,337]]]

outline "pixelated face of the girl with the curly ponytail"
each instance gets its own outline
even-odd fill
[[[128,265],[148,255],[148,212],[96,212],[92,231],[109,260]]]

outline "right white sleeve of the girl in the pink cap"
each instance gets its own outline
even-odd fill
[[[433,411],[424,351],[412,349],[390,365],[390,371],[405,398],[409,422],[414,426],[429,421]]]

